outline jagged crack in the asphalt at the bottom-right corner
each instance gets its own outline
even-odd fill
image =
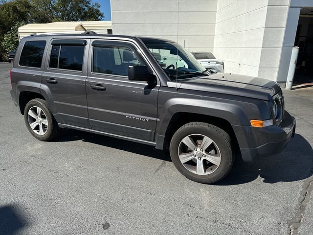
[[[310,201],[310,196],[313,191],[313,176],[312,169],[310,171],[311,176],[304,180],[302,190],[298,198],[298,204],[295,208],[295,214],[291,220],[288,221],[290,228],[290,235],[297,235],[298,230],[302,225],[305,218],[305,209]]]

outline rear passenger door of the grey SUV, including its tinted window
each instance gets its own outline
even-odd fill
[[[89,39],[52,39],[41,89],[59,123],[89,128],[85,81]]]

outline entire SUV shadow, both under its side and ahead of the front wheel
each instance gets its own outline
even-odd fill
[[[76,130],[64,129],[62,135],[54,141],[78,140],[171,162],[168,154],[154,146]],[[255,163],[249,164],[242,161],[240,154],[235,158],[229,175],[216,185],[245,184],[255,180],[259,175],[264,179],[264,183],[270,184],[303,180],[313,175],[313,149],[310,143],[298,134],[295,134],[280,154],[260,157]]]

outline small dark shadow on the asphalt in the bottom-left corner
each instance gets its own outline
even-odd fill
[[[30,225],[24,215],[13,204],[0,206],[0,235],[20,234]],[[23,233],[22,233],[23,234]]]

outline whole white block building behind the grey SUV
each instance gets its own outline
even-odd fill
[[[178,40],[189,51],[212,51],[227,72],[285,83],[292,47],[307,54],[313,48],[308,20],[313,0],[179,0],[179,8],[178,0],[112,0],[111,5],[114,34]],[[298,22],[304,26],[295,40]],[[308,61],[300,66],[310,68]]]

